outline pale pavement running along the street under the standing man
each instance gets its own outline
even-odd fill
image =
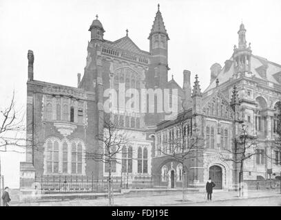
[[[271,206],[280,206],[281,194],[277,190],[248,190],[243,198],[238,197],[238,192],[214,190],[212,201],[207,201],[205,192],[187,194],[187,201],[182,201],[182,195],[158,195],[138,197],[115,197],[114,206],[224,206],[225,201],[242,206],[241,201],[260,199],[258,206],[267,206],[265,201],[275,201]],[[273,199],[271,199],[273,198]],[[233,201],[233,202],[229,202]],[[247,203],[245,203],[247,206]],[[14,206],[107,206],[108,199],[72,199],[70,201],[50,201],[36,203],[20,203]]]

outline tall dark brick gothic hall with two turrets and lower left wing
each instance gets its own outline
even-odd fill
[[[107,175],[105,164],[86,157],[87,152],[95,152],[101,144],[96,137],[104,133],[106,89],[118,91],[121,84],[126,91],[176,88],[178,102],[184,100],[185,88],[180,88],[174,79],[168,81],[169,36],[159,5],[148,36],[149,52],[138,48],[128,32],[116,41],[106,40],[98,16],[89,31],[87,63],[83,78],[78,74],[77,87],[35,80],[34,54],[28,52],[27,137],[34,149],[28,150],[26,160],[33,164],[37,176]],[[132,144],[124,146],[118,155],[122,163],[116,163],[112,173],[151,175],[154,130],[165,114],[141,113],[119,104],[112,109],[111,117],[129,131]]]

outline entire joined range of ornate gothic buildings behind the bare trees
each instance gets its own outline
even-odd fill
[[[245,164],[244,179],[266,179],[269,168],[273,173],[280,172],[281,155],[274,151],[273,140],[277,129],[275,107],[281,99],[281,65],[252,54],[243,24],[238,31],[238,47],[224,67],[218,63],[211,66],[211,82],[204,92],[198,76],[191,92],[188,70],[183,71],[183,87],[174,78],[168,81],[169,36],[159,5],[148,36],[149,52],[141,50],[128,32],[116,41],[106,40],[98,17],[89,31],[86,65],[83,77],[78,74],[77,87],[35,80],[34,54],[28,51],[27,137],[34,148],[28,149],[26,161],[37,176],[94,175],[97,179],[108,175],[105,164],[87,158],[85,153],[101,146],[96,136],[104,135],[104,94],[107,89],[120,91],[121,84],[126,91],[177,89],[176,97],[169,98],[178,100],[178,112],[167,120],[167,113],[142,112],[139,106],[127,109],[118,99],[110,117],[131,133],[132,142],[118,155],[122,163],[113,166],[113,175],[159,175],[160,185],[180,186],[183,166],[169,157],[165,141],[180,137],[178,124],[184,122],[185,135],[196,131],[205,149],[184,165],[188,186],[202,187],[211,175],[217,188],[233,188],[238,169],[218,155],[233,156],[227,149],[233,147],[233,137],[239,134],[237,118],[258,140],[259,153]],[[233,92],[234,86],[237,89]],[[153,96],[156,107],[160,100]],[[125,101],[129,98],[126,96]],[[271,159],[264,156],[266,153],[272,155]]]

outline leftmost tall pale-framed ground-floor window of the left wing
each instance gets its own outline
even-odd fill
[[[47,171],[48,173],[59,173],[59,143],[55,141],[47,143]]]

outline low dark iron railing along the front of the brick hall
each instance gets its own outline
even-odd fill
[[[82,175],[41,175],[36,177],[37,190],[42,194],[74,193],[74,192],[108,192],[108,179],[94,179],[94,176]],[[122,173],[119,177],[112,177],[112,189],[167,187],[167,182],[161,181],[160,175],[143,175]]]

